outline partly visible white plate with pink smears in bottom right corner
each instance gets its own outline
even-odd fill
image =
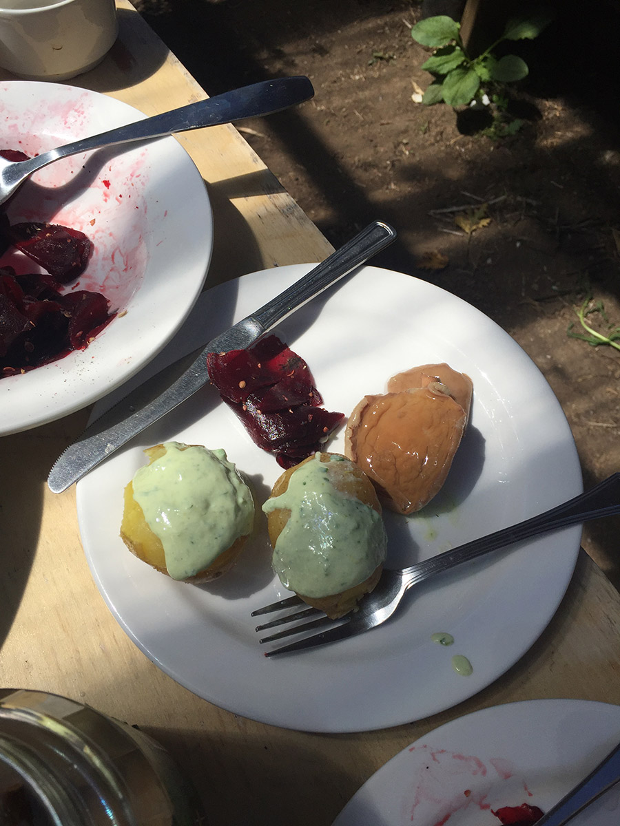
[[[495,705],[428,733],[376,771],[333,826],[499,826],[503,806],[543,813],[620,740],[620,706],[588,700]],[[618,826],[620,786],[571,826]]]

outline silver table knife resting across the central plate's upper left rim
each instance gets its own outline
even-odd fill
[[[391,226],[383,221],[374,221],[279,296],[212,339],[203,349],[194,352],[187,368],[184,369],[188,359],[179,359],[168,370],[141,384],[88,425],[80,438],[60,455],[47,477],[50,491],[60,493],[66,490],[136,434],[203,387],[209,381],[207,353],[227,353],[250,347],[261,335],[360,267],[395,238],[396,232]],[[179,376],[172,383],[171,373]],[[165,382],[164,389],[162,382]]]

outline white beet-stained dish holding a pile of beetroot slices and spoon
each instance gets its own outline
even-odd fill
[[[0,149],[40,154],[144,118],[112,97],[57,83],[0,83]],[[102,292],[116,317],[86,349],[0,378],[0,435],[55,420],[137,373],[179,330],[200,293],[212,215],[198,169],[173,137],[95,150],[35,173],[6,205],[11,223],[48,222],[93,244],[69,290]],[[0,266],[41,272],[21,253]]]

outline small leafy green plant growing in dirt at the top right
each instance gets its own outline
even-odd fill
[[[463,106],[472,102],[494,106],[505,111],[508,96],[503,93],[505,83],[525,78],[529,69],[517,55],[497,58],[494,50],[503,40],[533,40],[552,19],[551,12],[541,11],[535,16],[508,21],[503,35],[477,57],[470,57],[460,38],[460,23],[451,17],[427,17],[413,26],[411,35],[424,46],[434,49],[433,55],[422,64],[422,69],[435,75],[427,88],[422,103],[445,102],[449,106]]]

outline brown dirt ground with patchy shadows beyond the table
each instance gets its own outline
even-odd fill
[[[567,333],[585,333],[584,301],[596,330],[620,325],[617,4],[599,0],[584,19],[567,0],[538,40],[514,45],[530,65],[515,102],[527,121],[503,141],[413,102],[431,80],[410,36],[416,2],[137,5],[210,95],[307,74],[312,102],[246,121],[246,140],[332,244],[389,221],[399,240],[374,263],[455,293],[521,344],[560,400],[586,487],[620,470],[620,351]],[[463,213],[490,220],[468,234]],[[591,523],[583,544],[620,588],[619,528],[618,517]]]

